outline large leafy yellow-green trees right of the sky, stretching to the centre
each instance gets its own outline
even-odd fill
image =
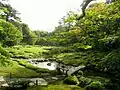
[[[77,20],[79,14],[68,12],[50,34],[35,32],[39,38],[37,44],[71,46],[81,43],[80,45],[90,45],[101,50],[118,47],[115,44],[119,41],[120,26],[117,2],[119,1],[111,5],[93,4],[86,9],[86,15],[80,21]]]

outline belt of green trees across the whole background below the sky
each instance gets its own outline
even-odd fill
[[[103,43],[104,37],[118,33],[120,26],[118,23],[119,13],[116,13],[119,12],[118,6],[104,7],[104,4],[94,4],[86,9],[92,1],[83,0],[81,5],[83,14],[80,16],[72,11],[68,12],[51,33],[31,31],[27,24],[21,22],[17,10],[13,9],[9,4],[0,2],[1,43],[9,46],[18,43],[67,46],[81,42],[96,46],[100,41]],[[107,0],[107,2],[113,2],[113,0]],[[111,10],[108,8],[111,8]],[[108,16],[109,18],[107,18]],[[81,20],[78,21],[78,18],[81,18]],[[8,31],[9,34],[6,34]],[[13,33],[15,35],[14,38]]]

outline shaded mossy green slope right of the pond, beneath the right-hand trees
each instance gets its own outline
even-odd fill
[[[63,61],[65,64],[97,64],[104,58],[108,52],[99,52],[99,51],[79,51],[79,52],[70,52],[70,53],[58,53],[54,54],[52,57],[57,58],[58,60]]]

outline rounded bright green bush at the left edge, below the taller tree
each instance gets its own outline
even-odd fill
[[[11,23],[0,20],[0,42],[4,46],[13,46],[19,44],[22,40],[21,32]]]

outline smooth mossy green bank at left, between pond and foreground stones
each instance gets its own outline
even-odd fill
[[[10,77],[38,77],[39,73],[34,70],[20,66],[17,62],[13,61],[12,66],[0,67],[0,76]]]

